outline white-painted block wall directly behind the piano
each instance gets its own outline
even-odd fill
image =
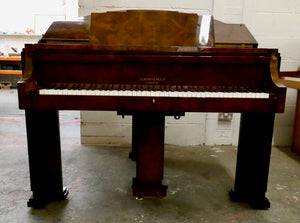
[[[161,9],[212,14],[226,23],[243,23],[259,47],[279,48],[281,70],[300,65],[300,2],[295,0],[79,0],[79,15],[126,9]],[[286,111],[276,115],[274,144],[290,145],[296,91],[288,90]],[[131,119],[116,113],[82,112],[82,143],[130,143]],[[93,117],[93,118],[92,118]],[[114,117],[110,125],[108,117]],[[219,121],[217,113],[186,113],[180,120],[166,119],[166,143],[179,145],[237,145],[240,114],[232,121]],[[124,129],[125,128],[125,129]],[[93,137],[87,133],[93,132]],[[115,133],[118,133],[116,137]],[[109,140],[105,140],[108,139]],[[120,140],[122,139],[122,140]]]

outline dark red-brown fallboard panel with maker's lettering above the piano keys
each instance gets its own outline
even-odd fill
[[[27,45],[38,86],[52,83],[245,86],[269,91],[274,50],[177,48],[111,50],[91,46]],[[173,52],[172,52],[173,51]],[[179,51],[179,52],[178,52]],[[25,61],[26,63],[26,61]],[[209,74],[209,75],[207,75]]]

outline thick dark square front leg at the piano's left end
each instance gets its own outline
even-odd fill
[[[25,110],[30,184],[28,207],[41,208],[64,200],[58,111]]]

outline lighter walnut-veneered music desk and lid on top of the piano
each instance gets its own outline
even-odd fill
[[[53,22],[40,43],[143,47],[257,47],[242,24],[176,11],[128,10],[92,13]]]

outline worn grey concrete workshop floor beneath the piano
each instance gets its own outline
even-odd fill
[[[236,148],[166,146],[164,200],[131,195],[135,163],[129,146],[80,144],[79,112],[61,112],[66,201],[26,206],[31,195],[24,113],[16,91],[0,91],[0,222],[300,222],[300,156],[273,148],[269,210],[232,203]],[[42,147],[42,145],[41,145]],[[253,163],[255,165],[255,163]]]

